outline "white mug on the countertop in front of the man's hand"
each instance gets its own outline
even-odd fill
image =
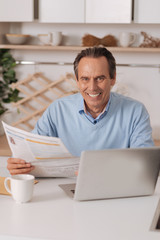
[[[5,178],[4,185],[16,202],[25,203],[32,198],[34,179],[35,177],[30,174],[13,175]],[[10,181],[10,189],[8,187],[8,181]]]

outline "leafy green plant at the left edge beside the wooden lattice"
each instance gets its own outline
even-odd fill
[[[17,82],[15,66],[10,50],[0,49],[0,120],[8,110],[7,104],[21,99],[19,91],[11,88],[11,84]]]

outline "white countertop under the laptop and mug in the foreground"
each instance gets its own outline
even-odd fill
[[[0,195],[0,239],[160,239],[160,232],[150,230],[160,198],[160,178],[153,196],[86,202],[70,199],[58,187],[71,182],[75,179],[40,179],[32,201],[25,204]]]

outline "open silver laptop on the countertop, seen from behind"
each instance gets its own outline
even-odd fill
[[[59,185],[74,200],[152,195],[160,171],[160,147],[84,151],[76,184]]]

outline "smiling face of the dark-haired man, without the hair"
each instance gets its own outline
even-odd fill
[[[114,84],[115,77],[110,79],[108,61],[105,57],[84,57],[80,60],[77,85],[91,114],[97,113],[97,116],[101,113]]]

